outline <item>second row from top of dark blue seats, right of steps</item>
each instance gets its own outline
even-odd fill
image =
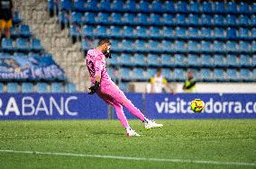
[[[59,13],[65,15],[67,13]],[[59,16],[61,19],[61,17]],[[69,19],[69,18],[67,18]],[[69,21],[68,21],[69,22]],[[256,15],[234,14],[171,14],[171,13],[76,13],[71,22],[78,24],[124,24],[124,25],[191,25],[191,26],[255,26]]]

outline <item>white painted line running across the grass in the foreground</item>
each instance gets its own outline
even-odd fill
[[[15,153],[15,154],[31,154],[31,155],[50,155],[50,156],[80,156],[91,158],[109,158],[119,160],[134,160],[134,161],[155,161],[155,162],[170,162],[170,163],[192,163],[201,165],[243,165],[243,166],[256,166],[256,163],[245,162],[221,162],[221,161],[208,161],[208,160],[192,160],[192,159],[171,159],[171,158],[144,158],[132,156],[101,156],[101,155],[86,155],[86,154],[73,154],[73,153],[53,153],[53,152],[39,152],[39,151],[16,151],[10,149],[0,149],[2,153]]]

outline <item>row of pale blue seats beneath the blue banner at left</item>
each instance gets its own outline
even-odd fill
[[[0,93],[75,93],[77,88],[75,84],[62,83],[0,83]]]

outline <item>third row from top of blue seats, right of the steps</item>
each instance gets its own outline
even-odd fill
[[[128,38],[128,39],[180,39],[180,40],[255,40],[256,28],[214,29],[202,27],[145,27],[145,26],[104,26],[85,25],[82,30],[77,25],[70,26],[72,37]]]

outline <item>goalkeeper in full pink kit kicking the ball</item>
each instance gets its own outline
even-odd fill
[[[105,58],[111,58],[110,48],[111,43],[109,40],[99,40],[96,49],[87,51],[87,69],[92,83],[92,86],[89,88],[89,94],[97,93],[106,103],[114,106],[117,118],[126,129],[127,137],[140,135],[130,128],[123,114],[123,106],[136,118],[142,120],[145,123],[146,129],[162,127],[162,124],[157,124],[153,120],[146,119],[142,112],[126,98],[124,93],[111,80],[110,76],[107,75]]]

